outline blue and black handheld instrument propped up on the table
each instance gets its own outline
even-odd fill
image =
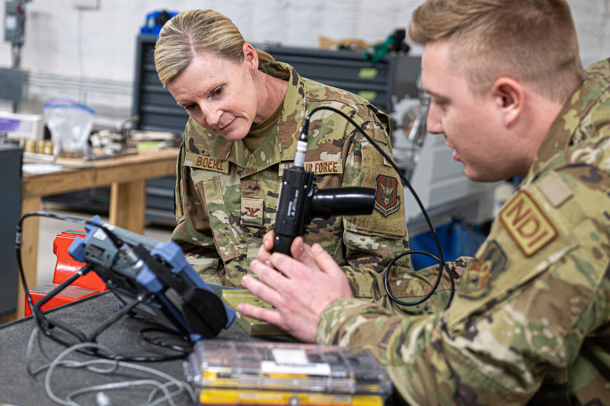
[[[94,216],[87,237],[68,248],[77,261],[92,267],[131,311],[188,335],[195,342],[215,338],[235,312],[224,305],[184,259],[173,241],[159,243]],[[92,225],[96,224],[96,225]]]

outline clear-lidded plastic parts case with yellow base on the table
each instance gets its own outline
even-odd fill
[[[184,362],[205,406],[382,406],[392,382],[366,349],[201,340]]]

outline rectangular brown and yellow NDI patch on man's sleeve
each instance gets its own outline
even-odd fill
[[[504,205],[500,220],[526,257],[557,237],[557,230],[529,194],[522,190]]]

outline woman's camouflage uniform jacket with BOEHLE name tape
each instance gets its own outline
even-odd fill
[[[388,118],[365,99],[305,79],[285,63],[266,63],[260,70],[288,80],[289,87],[279,123],[256,151],[249,152],[241,140],[226,141],[192,119],[184,134],[176,183],[178,227],[172,239],[210,283],[240,287],[249,272],[262,237],[273,229],[281,171],[294,160],[307,112],[323,104],[339,109],[391,152]],[[393,201],[382,201],[373,215],[314,219],[304,236],[306,243],[320,243],[352,279],[362,276],[357,267],[382,271],[390,258],[409,247],[403,188],[397,187],[400,181],[392,167],[351,124],[329,111],[316,113],[310,122],[307,149],[306,166],[315,171],[319,188],[394,185]],[[408,258],[401,265],[408,266]],[[353,287],[358,295],[357,282]],[[366,289],[364,296],[370,283]]]

